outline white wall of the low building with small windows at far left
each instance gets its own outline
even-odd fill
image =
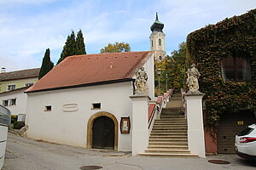
[[[8,105],[6,108],[11,111],[12,115],[18,116],[19,114],[26,114],[26,99],[27,96],[24,94],[24,90],[17,90],[13,92],[8,92],[0,94],[0,104],[3,105],[3,100],[5,99],[15,99],[16,105]],[[10,104],[10,101],[9,101]]]

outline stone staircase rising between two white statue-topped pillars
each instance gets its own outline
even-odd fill
[[[154,120],[148,150],[138,155],[197,157],[189,151],[187,131],[188,125],[184,116],[181,94],[173,94],[166,108],[162,109],[160,120]]]

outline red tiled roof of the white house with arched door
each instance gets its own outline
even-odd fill
[[[131,79],[152,52],[84,54],[67,57],[26,92],[73,88],[96,82]]]

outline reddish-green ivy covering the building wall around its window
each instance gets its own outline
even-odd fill
[[[249,57],[251,81],[224,81],[221,61],[236,52]],[[200,91],[206,94],[208,124],[216,126],[221,114],[241,110],[256,113],[256,9],[190,33],[187,67],[191,63],[201,73]]]

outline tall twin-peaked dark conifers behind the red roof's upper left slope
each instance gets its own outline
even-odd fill
[[[57,64],[59,64],[67,56],[79,54],[86,54],[83,32],[81,30],[79,30],[77,37],[74,31],[72,31],[71,34],[67,36],[67,41],[65,42],[61,52],[61,58],[58,60]]]

